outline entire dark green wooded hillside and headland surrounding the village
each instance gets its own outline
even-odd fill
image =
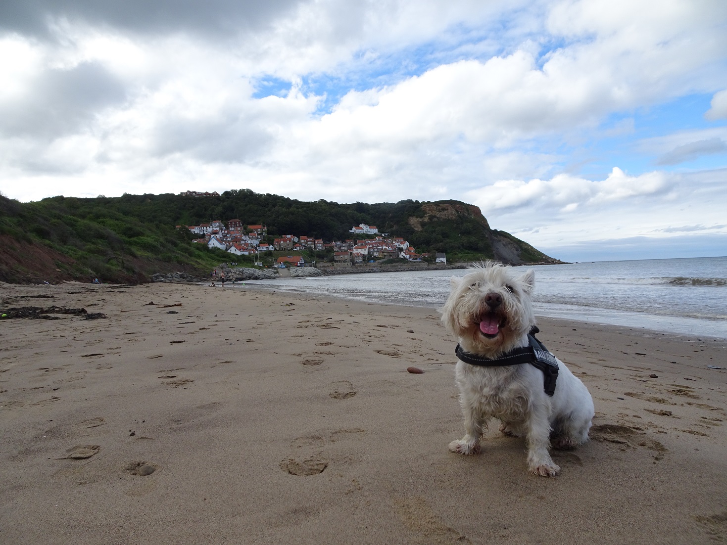
[[[446,251],[450,262],[555,262],[518,238],[492,230],[476,206],[459,201],[339,204],[251,190],[219,197],[59,196],[32,203],[0,196],[0,280],[139,282],[158,271],[204,274],[230,260],[230,254],[193,244],[193,235],[174,226],[233,218],[266,225],[271,236],[289,233],[324,241],[350,238],[353,225],[376,225],[379,232],[403,237],[417,252]],[[234,259],[252,263],[252,257]]]

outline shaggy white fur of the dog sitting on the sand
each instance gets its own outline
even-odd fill
[[[441,308],[442,322],[466,352],[497,358],[513,348],[528,345],[527,334],[535,325],[531,303],[535,275],[518,275],[513,267],[490,262],[472,267],[463,278],[451,278],[451,294]],[[499,295],[502,304],[492,309],[487,294]],[[497,336],[481,333],[483,315],[497,314],[502,320]],[[455,368],[459,401],[465,416],[465,437],[452,441],[449,450],[476,454],[487,421],[502,422],[505,435],[525,435],[528,469],[535,475],[558,475],[550,458],[550,439],[556,448],[572,448],[588,440],[593,419],[593,400],[585,385],[558,360],[555,395],[543,389],[542,371],[523,363],[507,367],[473,366],[462,361]]]

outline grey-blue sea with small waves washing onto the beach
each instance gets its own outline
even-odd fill
[[[537,315],[687,336],[727,337],[727,257],[516,267],[535,271]],[[275,291],[439,307],[467,270],[246,281]],[[238,288],[245,288],[238,284]]]

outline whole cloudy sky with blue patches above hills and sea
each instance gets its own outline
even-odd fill
[[[727,254],[724,0],[5,0],[0,191],[481,207],[569,260]]]

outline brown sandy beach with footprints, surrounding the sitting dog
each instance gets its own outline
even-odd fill
[[[707,368],[724,341],[540,320],[597,411],[547,479],[497,425],[481,455],[447,451],[463,429],[433,310],[168,284],[0,296],[108,315],[0,322],[3,544],[727,540],[727,371]]]

